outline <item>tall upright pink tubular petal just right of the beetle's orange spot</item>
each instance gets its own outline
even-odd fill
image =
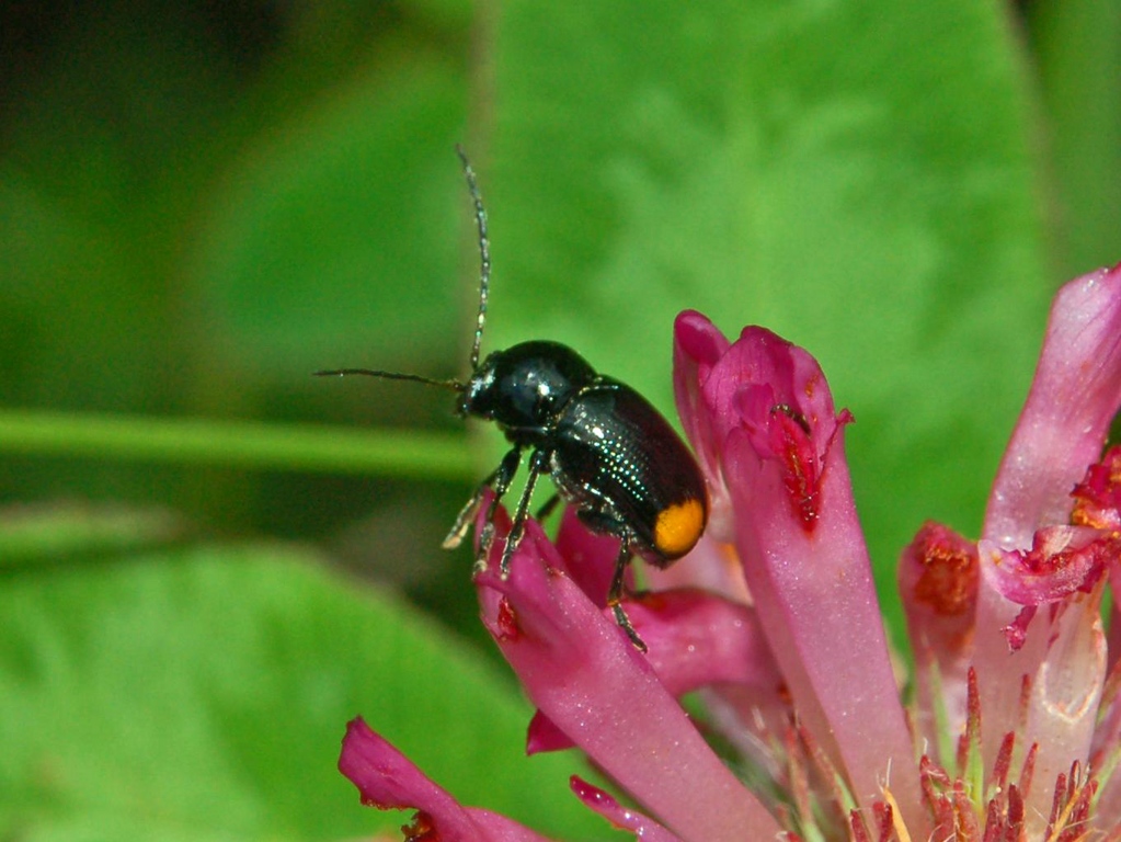
[[[689,337],[704,333],[701,318],[691,315]],[[712,441],[695,445],[719,455],[748,589],[798,715],[861,806],[890,770],[905,820],[925,827],[844,459],[851,416],[834,411],[813,357],[759,327],[711,366],[701,390],[707,420],[692,426]]]

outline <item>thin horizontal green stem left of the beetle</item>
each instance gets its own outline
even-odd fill
[[[463,436],[8,409],[0,453],[471,479]]]

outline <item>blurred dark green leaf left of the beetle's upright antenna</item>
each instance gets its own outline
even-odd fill
[[[462,368],[464,82],[438,58],[409,62],[407,77],[378,67],[262,137],[215,194],[194,272],[239,360],[286,377],[311,360]]]

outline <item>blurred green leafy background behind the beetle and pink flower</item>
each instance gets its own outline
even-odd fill
[[[602,836],[438,548],[497,434],[311,377],[464,373],[454,145],[484,350],[667,411],[683,308],[817,355],[897,622],[923,519],[980,526],[1051,293],[1121,259],[1119,45],[1119,0],[0,3],[0,838],[392,831],[333,768],[359,712]]]

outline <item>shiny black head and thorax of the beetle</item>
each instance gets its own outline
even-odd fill
[[[495,351],[472,373],[460,411],[511,431],[546,431],[595,370],[566,345],[522,342]]]

